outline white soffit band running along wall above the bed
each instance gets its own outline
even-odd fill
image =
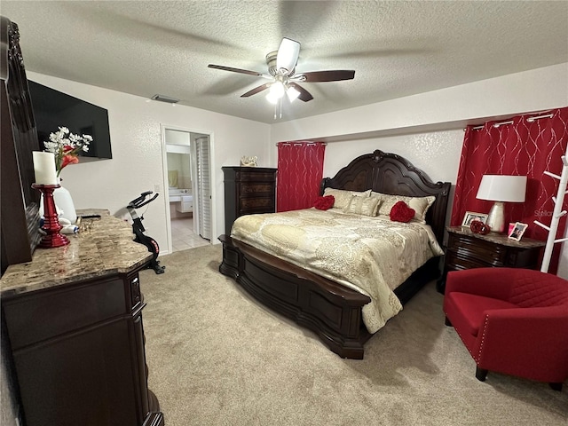
[[[276,123],[272,143],[338,136],[354,140],[368,132],[415,127],[456,129],[484,117],[564,106],[568,106],[568,63]]]

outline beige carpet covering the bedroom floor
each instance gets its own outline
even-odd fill
[[[220,260],[220,245],[193,248],[162,256],[162,275],[141,272],[149,386],[167,426],[568,424],[566,385],[477,381],[433,282],[350,360],[257,304]]]

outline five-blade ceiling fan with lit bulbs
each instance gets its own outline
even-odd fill
[[[312,94],[306,91],[298,83],[319,83],[319,82],[338,82],[341,80],[351,80],[355,77],[355,71],[332,70],[332,71],[313,71],[308,73],[296,74],[296,65],[300,54],[300,43],[284,37],[278,51],[271,51],[266,55],[266,65],[268,74],[249,71],[248,69],[224,67],[222,65],[209,64],[209,68],[217,68],[233,73],[256,75],[271,80],[269,83],[247,91],[241,98],[248,98],[258,92],[269,89],[267,99],[273,104],[280,103],[284,94],[290,101],[297,99],[308,102],[313,99]],[[281,105],[281,103],[280,103]],[[281,113],[280,113],[281,116]]]

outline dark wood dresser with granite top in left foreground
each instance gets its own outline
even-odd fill
[[[67,246],[37,248],[0,280],[3,352],[27,426],[164,424],[147,387],[138,278],[152,255],[99,212]]]

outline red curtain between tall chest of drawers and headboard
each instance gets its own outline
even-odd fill
[[[308,209],[319,196],[326,144],[278,144],[277,211]]]

